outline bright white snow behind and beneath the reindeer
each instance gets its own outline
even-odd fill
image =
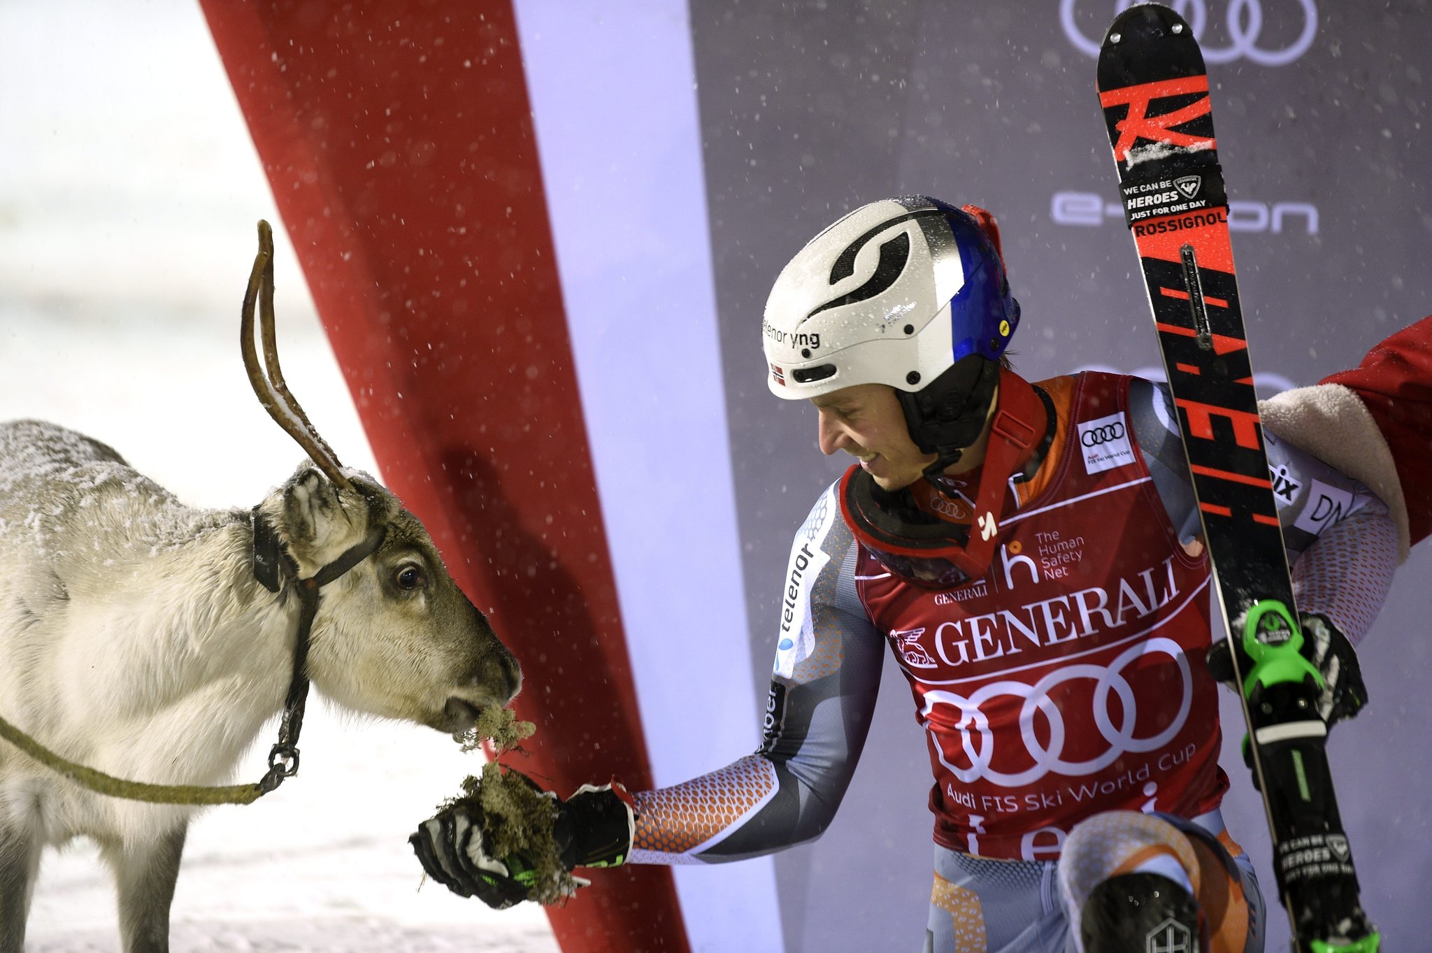
[[[192,505],[258,502],[302,459],[236,346],[253,222],[279,219],[198,4],[0,4],[0,419],[80,429]],[[275,239],[285,378],[341,459],[377,472],[282,229]],[[275,733],[236,780],[258,780]],[[192,824],[176,953],[557,950],[538,907],[420,889],[408,833],[480,754],[319,703],[301,750],[279,791]],[[87,843],[46,854],[27,949],[119,949]]]

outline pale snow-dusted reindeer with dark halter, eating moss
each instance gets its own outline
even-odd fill
[[[0,718],[66,761],[213,784],[284,710],[261,786],[271,790],[298,767],[308,678],[339,705],[444,733],[517,694],[517,661],[422,524],[344,469],[288,392],[272,292],[259,222],[243,363],[311,462],[252,511],[185,507],[73,431],[0,425]],[[0,741],[0,953],[21,953],[42,850],[73,837],[93,839],[113,871],[126,953],[165,953],[196,808],[96,794],[72,777]]]

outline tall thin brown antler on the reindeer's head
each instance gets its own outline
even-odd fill
[[[253,346],[253,306],[258,303],[259,329],[263,336],[263,365],[259,368],[258,351]],[[352,484],[342,474],[342,464],[338,455],[318,435],[318,429],[308,421],[304,408],[298,405],[288,385],[284,383],[284,372],[278,366],[278,341],[274,336],[274,229],[263,219],[259,219],[259,253],[253,256],[253,269],[249,272],[249,286],[243,292],[243,312],[239,322],[239,349],[243,352],[243,369],[249,373],[249,383],[259,404],[274,418],[274,422],[298,441],[304,452],[312,458],[328,479],[344,489],[352,489]]]

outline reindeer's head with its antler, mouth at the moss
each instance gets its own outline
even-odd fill
[[[345,471],[289,394],[274,335],[272,259],[272,232],[259,222],[259,253],[243,296],[243,366],[259,404],[314,462],[301,465],[259,514],[298,578],[311,578],[378,529],[382,535],[371,555],[324,587],[309,677],[345,707],[465,731],[483,707],[517,694],[517,660],[448,575],[418,518],[372,478]],[[255,303],[263,368],[253,346]]]

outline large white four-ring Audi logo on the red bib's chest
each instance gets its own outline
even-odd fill
[[[1183,688],[1179,711],[1169,725],[1154,735],[1141,738],[1137,734],[1138,704],[1134,700],[1134,688],[1124,678],[1123,673],[1131,663],[1151,654],[1167,655],[1179,665]],[[1078,721],[1075,731],[1081,733],[1081,740],[1083,731],[1087,727],[1084,724],[1085,720],[1077,713],[1070,713],[1067,708],[1054,704],[1050,698],[1050,690],[1065,681],[1080,678],[1094,681],[1091,715],[1094,725],[1108,747],[1093,758],[1068,761],[1064,758],[1064,741],[1067,737],[1064,717],[1065,714],[1074,714]],[[1024,743],[1025,758],[1032,761],[1030,767],[1014,773],[998,771],[991,767],[995,760],[995,738],[994,733],[990,731],[990,718],[984,713],[987,703],[1004,695],[1014,695],[1024,700],[1024,704],[1020,707],[1020,738]],[[1117,695],[1117,710],[1111,708],[1110,695]],[[937,708],[941,707],[954,708],[954,713],[951,713],[954,717],[938,713]],[[949,750],[954,746],[954,733],[945,733],[944,735],[934,734],[934,737],[938,741],[935,750],[939,754],[939,763],[949,768],[949,773],[962,783],[971,784],[982,778],[1004,787],[1024,787],[1038,781],[1050,771],[1057,771],[1067,777],[1083,777],[1103,771],[1127,753],[1157,751],[1183,730],[1191,707],[1193,673],[1189,668],[1189,657],[1179,642],[1171,638],[1158,637],[1130,645],[1107,668],[1093,664],[1063,665],[1032,685],[1027,685],[1022,681],[995,681],[981,687],[968,698],[954,691],[927,691],[925,707],[921,715],[937,724],[951,725],[958,733],[958,750]],[[1048,724],[1050,743],[1047,746],[1040,741],[1034,731],[1037,714],[1042,715],[1045,724]],[[1118,718],[1118,724],[1114,724],[1116,717]],[[1011,738],[1012,735],[1004,734],[1001,744],[1010,744]],[[1018,753],[1001,753],[1000,757],[1001,763],[1005,764],[1020,758]]]

